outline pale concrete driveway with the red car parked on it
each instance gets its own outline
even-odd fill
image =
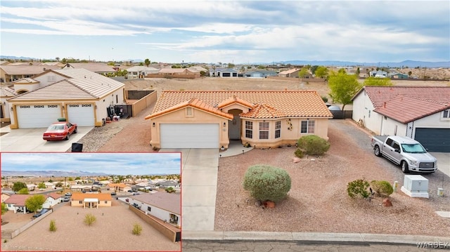
[[[46,128],[10,130],[6,127],[1,128],[1,132],[5,134],[0,136],[0,152],[66,152],[72,149],[72,142],[77,142],[94,128],[78,127],[78,133],[70,135],[69,140],[47,142],[42,139]]]

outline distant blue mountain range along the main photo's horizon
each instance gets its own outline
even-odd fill
[[[39,60],[37,58],[30,57],[16,57],[16,56],[6,56],[0,55],[2,60]],[[46,59],[53,60],[53,59]],[[128,59],[122,60],[122,62],[143,62],[141,59]],[[179,62],[178,62],[179,63]],[[185,62],[193,63],[193,62]],[[283,65],[324,65],[328,67],[349,67],[349,66],[367,66],[367,67],[445,67],[450,68],[450,61],[441,62],[429,62],[429,61],[416,61],[416,60],[404,60],[402,62],[352,62],[352,61],[339,61],[339,60],[287,60],[287,61],[277,61],[277,62],[249,62],[250,65],[272,65],[272,64],[283,64]]]

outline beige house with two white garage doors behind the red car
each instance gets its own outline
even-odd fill
[[[103,126],[108,108],[125,102],[125,88],[86,69],[47,70],[14,84],[11,128],[46,128],[64,117],[78,126]]]

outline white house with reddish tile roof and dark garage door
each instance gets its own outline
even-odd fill
[[[365,86],[352,100],[352,119],[375,134],[405,135],[430,152],[450,152],[450,87]]]

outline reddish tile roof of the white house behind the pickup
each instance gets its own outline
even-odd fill
[[[450,87],[366,86],[364,89],[375,112],[403,124],[450,108]]]

